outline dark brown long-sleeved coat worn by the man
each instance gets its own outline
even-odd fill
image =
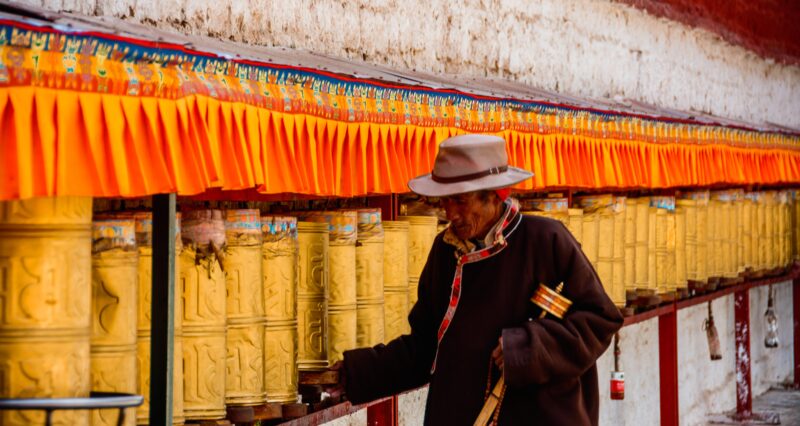
[[[596,359],[622,326],[580,245],[557,221],[517,216],[508,246],[464,265],[461,300],[439,347],[436,333],[450,297],[454,248],[439,235],[411,310],[411,334],[387,345],[345,353],[346,391],[366,402],[430,383],[425,424],[472,425],[484,402],[492,350],[503,338],[508,384],[499,423],[594,425],[598,422]],[[563,320],[530,301],[539,283],[573,301]]]

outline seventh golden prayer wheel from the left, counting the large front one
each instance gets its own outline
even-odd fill
[[[328,368],[328,224],[297,222],[297,368]]]

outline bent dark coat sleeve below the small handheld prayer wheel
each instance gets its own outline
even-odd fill
[[[547,315],[503,329],[503,374],[509,387],[581,376],[622,327],[622,315],[569,231],[558,224],[544,240],[537,244],[548,252],[540,251],[550,264],[542,266],[543,275],[550,283],[564,283],[563,294],[572,306],[563,319]]]

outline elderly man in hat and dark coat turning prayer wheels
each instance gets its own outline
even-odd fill
[[[503,139],[464,135],[442,142],[433,172],[409,182],[441,198],[450,226],[420,277],[411,333],[345,352],[351,401],[429,383],[425,424],[472,425],[502,375],[491,421],[597,424],[595,361],[622,317],[567,229],[507,198],[504,188],[531,176],[508,166]]]

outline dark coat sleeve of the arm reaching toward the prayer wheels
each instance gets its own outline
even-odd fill
[[[437,320],[432,293],[435,250],[431,250],[419,279],[417,303],[408,315],[411,333],[388,344],[344,353],[345,391],[355,404],[422,386],[430,379],[436,352]]]

